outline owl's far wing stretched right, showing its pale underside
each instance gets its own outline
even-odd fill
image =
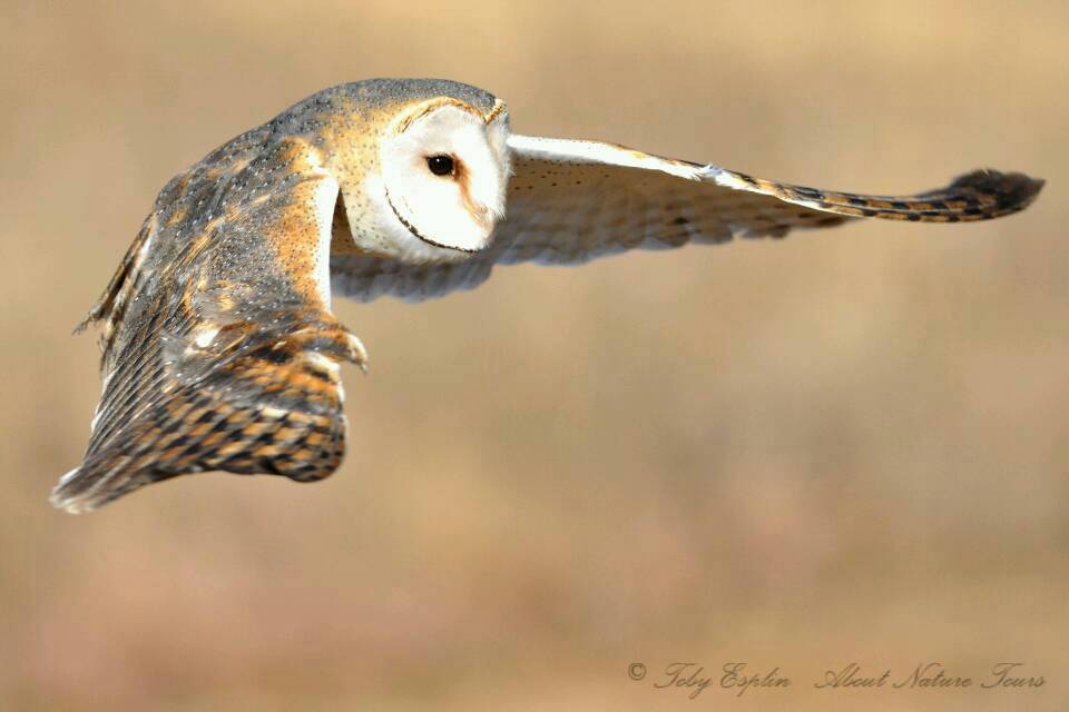
[[[596,141],[511,136],[508,215],[492,247],[453,264],[409,265],[335,256],[340,294],[420,300],[471,288],[496,264],[569,265],[629,249],[665,249],[876,217],[962,222],[1026,208],[1043,185],[1022,174],[978,170],[915,196],[866,196],[790,186]]]

